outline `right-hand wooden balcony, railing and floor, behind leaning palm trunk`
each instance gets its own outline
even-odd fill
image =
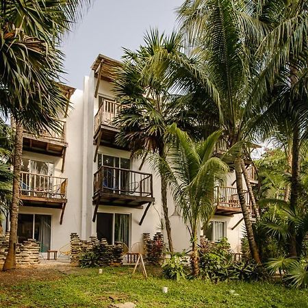
[[[249,206],[248,191],[245,192],[246,204]],[[231,216],[242,213],[242,207],[238,198],[238,190],[233,187],[217,186],[215,188],[216,215]]]

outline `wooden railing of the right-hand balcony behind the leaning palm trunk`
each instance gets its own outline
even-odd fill
[[[244,190],[246,205],[250,204],[248,191]],[[238,190],[233,187],[217,186],[215,188],[216,205],[222,207],[241,207]]]

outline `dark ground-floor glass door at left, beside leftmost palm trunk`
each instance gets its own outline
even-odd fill
[[[18,243],[29,238],[40,242],[40,251],[46,253],[51,242],[51,216],[39,214],[18,214]]]

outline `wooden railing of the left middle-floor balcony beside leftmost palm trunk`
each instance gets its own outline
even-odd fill
[[[66,187],[67,179],[62,177],[21,172],[22,196],[65,199]]]

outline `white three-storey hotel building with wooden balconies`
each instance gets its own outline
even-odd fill
[[[99,55],[84,79],[84,90],[63,87],[73,108],[62,119],[61,134],[24,133],[18,242],[36,238],[42,252],[59,250],[76,232],[82,240],[97,235],[110,244],[122,241],[131,247],[142,242],[142,233],[162,231],[159,177],[146,162],[140,169],[141,162],[131,160],[131,153],[114,142],[118,130],[111,120],[118,105],[112,67],[119,64]],[[238,253],[243,221],[235,187],[235,172],[229,172],[218,190],[207,238],[226,236]],[[188,229],[170,194],[168,207],[175,250],[187,249]]]

